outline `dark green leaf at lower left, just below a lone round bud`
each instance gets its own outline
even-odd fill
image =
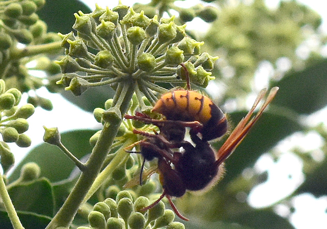
[[[10,187],[8,193],[18,211],[33,212],[50,217],[54,214],[52,186],[45,178],[18,183]]]

